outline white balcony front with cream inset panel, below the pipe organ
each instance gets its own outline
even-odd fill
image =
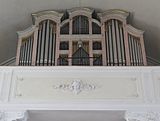
[[[160,67],[0,67],[0,110],[23,116],[29,110],[157,116],[159,73]]]

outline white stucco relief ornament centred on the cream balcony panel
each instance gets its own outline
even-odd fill
[[[67,91],[71,91],[74,94],[79,94],[82,91],[92,91],[96,89],[95,85],[92,84],[87,84],[84,83],[81,80],[74,80],[72,83],[70,84],[60,84],[60,85],[53,85],[54,89],[59,89],[59,90],[67,90]]]

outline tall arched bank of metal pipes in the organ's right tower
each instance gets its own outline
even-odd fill
[[[125,45],[122,22],[111,19],[106,22],[106,56],[107,65],[125,66]]]

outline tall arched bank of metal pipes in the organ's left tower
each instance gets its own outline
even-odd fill
[[[36,65],[55,65],[56,24],[45,20],[39,26]]]

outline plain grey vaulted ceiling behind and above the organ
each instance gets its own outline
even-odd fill
[[[78,7],[78,0],[0,0],[0,63],[16,55],[16,31],[32,24],[31,13]],[[160,60],[159,0],[82,0],[81,6],[124,9],[130,24],[145,31],[147,55]]]

